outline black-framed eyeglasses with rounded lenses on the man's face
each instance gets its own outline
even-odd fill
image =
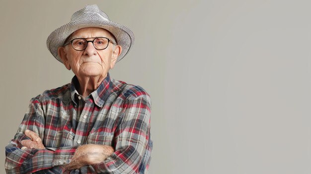
[[[70,41],[69,43],[71,43],[73,48],[77,51],[85,50],[88,42],[91,42],[96,50],[105,50],[108,47],[109,42],[111,41],[109,38],[105,37],[97,37],[94,38],[92,41],[87,41],[86,39],[93,39],[93,38],[76,38]]]

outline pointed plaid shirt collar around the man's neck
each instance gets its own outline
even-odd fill
[[[74,76],[71,81],[71,98],[74,104],[77,105],[76,100],[75,100],[75,95],[79,95],[79,94],[75,87],[75,84],[78,84],[77,76]],[[98,88],[90,94],[90,96],[93,97],[94,103],[98,107],[102,107],[104,105],[105,101],[108,99],[110,95],[111,88],[112,88],[112,83],[110,80],[110,75],[108,73],[107,77],[101,82]]]

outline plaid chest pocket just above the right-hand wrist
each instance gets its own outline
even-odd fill
[[[114,136],[107,135],[105,132],[93,132],[88,135],[87,144],[100,144],[100,145],[113,146]]]

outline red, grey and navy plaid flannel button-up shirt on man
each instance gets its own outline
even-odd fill
[[[5,147],[8,174],[143,174],[148,172],[152,140],[151,101],[140,86],[110,80],[109,74],[87,98],[75,88],[78,79],[47,90],[30,101],[18,131]],[[26,129],[36,132],[45,149],[21,150],[20,141],[29,139]],[[105,161],[64,171],[78,146],[103,144],[115,152]]]

